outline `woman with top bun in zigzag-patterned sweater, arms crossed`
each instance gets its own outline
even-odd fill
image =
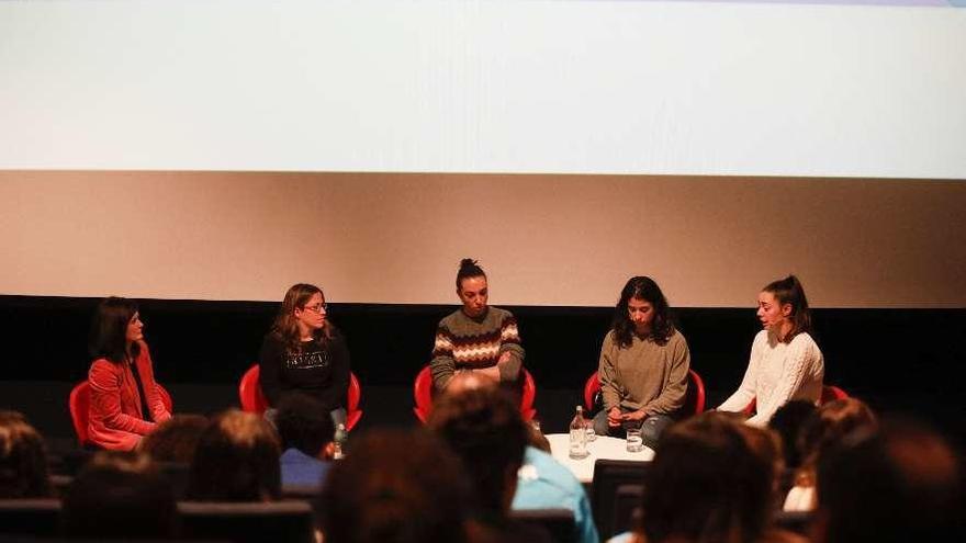
[[[518,384],[524,348],[517,319],[488,305],[486,273],[475,260],[460,261],[457,296],[462,307],[440,320],[433,349],[433,384],[442,391],[460,372],[474,372],[501,384]]]

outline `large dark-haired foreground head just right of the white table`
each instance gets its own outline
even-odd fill
[[[707,414],[662,434],[643,497],[648,542],[761,538],[772,505],[773,466],[752,451],[742,426]]]

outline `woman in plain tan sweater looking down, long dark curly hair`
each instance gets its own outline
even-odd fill
[[[600,348],[604,409],[594,417],[595,433],[622,437],[640,428],[644,445],[654,449],[684,406],[689,369],[687,340],[671,321],[661,287],[651,278],[631,278]]]

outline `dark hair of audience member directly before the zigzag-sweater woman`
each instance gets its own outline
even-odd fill
[[[506,473],[523,464],[528,443],[527,427],[509,393],[484,386],[443,394],[429,416],[429,428],[470,467],[480,507],[504,516]]]

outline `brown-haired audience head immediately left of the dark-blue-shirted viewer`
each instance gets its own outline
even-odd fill
[[[270,501],[281,495],[279,439],[261,417],[237,409],[216,416],[201,434],[188,480],[198,501]]]

